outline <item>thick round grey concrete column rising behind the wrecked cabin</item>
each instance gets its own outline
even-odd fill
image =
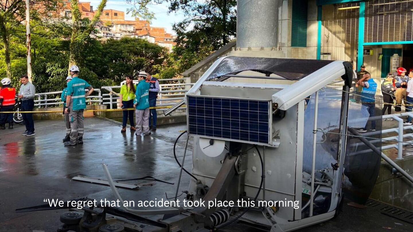
[[[280,0],[237,1],[237,47],[277,47]]]

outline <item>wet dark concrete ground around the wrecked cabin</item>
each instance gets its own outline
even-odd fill
[[[105,178],[101,164],[106,163],[114,179],[151,175],[169,182],[178,181],[179,166],[173,158],[173,142],[185,124],[160,126],[151,136],[137,137],[121,124],[104,118],[86,118],[84,144],[64,147],[62,120],[35,121],[36,135],[20,135],[24,126],[0,131],[0,231],[55,231],[63,211],[15,213],[16,208],[44,204],[43,199],[72,199],[88,196],[114,200],[108,186],[73,181],[76,175]],[[185,136],[179,142],[178,156],[183,154]],[[190,142],[192,145],[192,142]],[[190,147],[192,149],[192,147]],[[188,152],[185,168],[192,166]],[[183,175],[180,191],[187,190],[190,178]],[[176,185],[153,183],[140,189],[119,189],[124,200],[150,200],[173,196]],[[345,205],[339,217],[326,223],[299,230],[309,231],[413,231],[413,225],[383,215],[371,208]],[[230,225],[223,231],[256,231],[242,225]]]

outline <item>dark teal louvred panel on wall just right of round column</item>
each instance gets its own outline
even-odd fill
[[[307,1],[292,0],[291,47],[307,47]]]

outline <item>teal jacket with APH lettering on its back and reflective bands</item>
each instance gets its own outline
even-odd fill
[[[77,76],[67,83],[67,95],[72,96],[68,105],[71,110],[86,109],[85,89],[92,89],[92,85]]]

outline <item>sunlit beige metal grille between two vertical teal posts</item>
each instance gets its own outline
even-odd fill
[[[356,64],[359,3],[323,5],[321,14],[321,59]]]

